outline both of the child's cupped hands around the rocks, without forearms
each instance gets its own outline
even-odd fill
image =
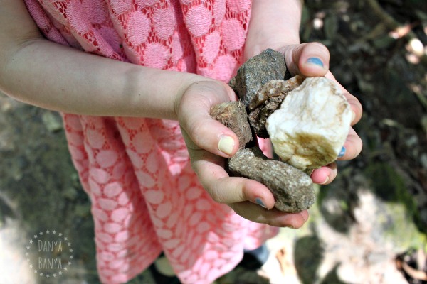
[[[275,50],[283,53],[292,75],[325,76],[335,80],[329,71],[330,55],[324,45],[285,45]],[[354,125],[362,116],[362,106],[344,87],[342,91],[354,111]],[[306,210],[296,214],[279,212],[273,208],[274,197],[265,185],[247,178],[230,177],[226,173],[225,158],[238,151],[238,138],[233,131],[212,119],[209,111],[214,104],[234,100],[236,94],[227,84],[206,79],[191,84],[176,102],[176,114],[191,165],[201,185],[213,200],[228,204],[246,219],[272,226],[299,228],[308,219]],[[351,160],[362,151],[362,140],[352,128],[349,129],[344,148],[346,151],[339,160]],[[337,165],[332,163],[315,170],[311,178],[315,183],[327,184],[336,176]]]

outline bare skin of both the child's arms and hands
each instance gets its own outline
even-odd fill
[[[0,0],[0,89],[10,97],[37,107],[95,116],[139,116],[175,119],[189,150],[191,165],[213,200],[228,204],[237,214],[253,222],[299,228],[308,212],[288,214],[272,209],[274,197],[259,182],[231,178],[223,169],[224,158],[238,150],[238,139],[230,129],[209,115],[212,105],[236,100],[223,82],[199,75],[156,70],[102,58],[52,43],[43,38],[23,1]],[[330,54],[320,43],[300,44],[301,3],[297,0],[253,0],[245,57],[265,48],[285,56],[292,75],[326,76]],[[323,66],[307,62],[319,58]],[[353,124],[362,116],[357,99],[344,88],[354,111]],[[151,94],[159,94],[152,96]],[[90,94],[90,96],[88,95]],[[218,148],[221,138],[231,137],[231,153]],[[349,131],[339,160],[359,155],[362,141]],[[335,164],[315,170],[312,180],[332,182]],[[256,204],[261,200],[266,208]]]

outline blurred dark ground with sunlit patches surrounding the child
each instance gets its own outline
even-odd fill
[[[306,0],[301,40],[330,49],[330,70],[362,102],[363,151],[316,188],[310,222],[268,242],[263,268],[216,283],[427,283],[427,1]],[[0,94],[2,284],[99,283],[90,202],[66,145],[58,114]],[[26,246],[53,230],[73,261],[46,278]]]

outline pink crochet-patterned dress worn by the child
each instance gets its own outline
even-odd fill
[[[242,62],[250,0],[26,0],[43,35],[113,60],[227,82]],[[90,94],[88,94],[90,95]],[[155,94],[153,94],[155,95]],[[278,229],[217,204],[191,170],[176,121],[63,114],[95,220],[102,283],[164,251],[182,283],[212,283]]]

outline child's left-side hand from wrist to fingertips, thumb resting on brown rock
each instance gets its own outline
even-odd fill
[[[308,219],[307,211],[288,214],[272,209],[275,200],[265,185],[246,178],[231,178],[224,170],[225,158],[238,150],[238,138],[212,119],[209,111],[214,104],[231,100],[236,100],[236,94],[228,85],[206,79],[191,84],[176,102],[176,114],[191,165],[201,185],[216,202],[228,204],[237,214],[253,222],[302,226]]]

